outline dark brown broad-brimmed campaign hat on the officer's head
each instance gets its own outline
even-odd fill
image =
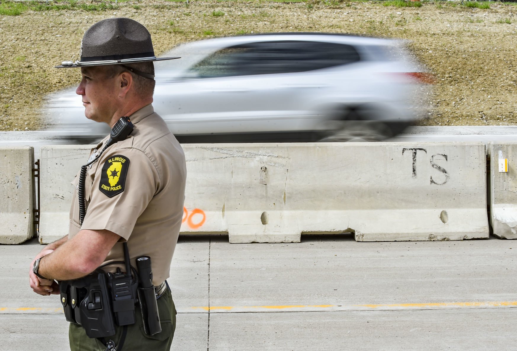
[[[146,27],[129,18],[109,18],[89,27],[81,41],[81,58],[64,61],[56,68],[120,65],[170,60],[156,57]]]

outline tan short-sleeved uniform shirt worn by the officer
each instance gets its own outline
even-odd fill
[[[79,173],[70,209],[68,238],[81,229],[107,229],[122,237],[104,263],[124,261],[121,242],[128,242],[131,265],[151,257],[153,283],[169,278],[185,200],[183,149],[152,105],[129,116],[129,137],[108,147],[86,173],[86,216],[79,225]],[[102,150],[109,136],[98,145]],[[92,153],[96,151],[92,150]],[[91,156],[91,153],[90,153]],[[86,162],[85,162],[86,164]],[[117,266],[108,266],[114,271]],[[125,271],[125,269],[123,269]]]

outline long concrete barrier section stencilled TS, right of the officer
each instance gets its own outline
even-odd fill
[[[230,242],[297,242],[354,231],[357,241],[489,235],[482,143],[184,145],[182,233]]]

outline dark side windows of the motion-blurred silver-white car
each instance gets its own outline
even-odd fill
[[[317,41],[264,41],[216,51],[189,69],[196,78],[305,72],[360,60],[351,45]]]

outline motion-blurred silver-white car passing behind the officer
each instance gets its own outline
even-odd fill
[[[155,64],[154,107],[180,142],[376,141],[424,117],[429,75],[404,42],[278,33],[178,45]],[[49,129],[102,138],[75,87],[49,99]]]

